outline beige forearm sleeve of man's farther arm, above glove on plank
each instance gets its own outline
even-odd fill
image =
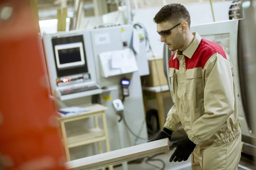
[[[167,114],[167,119],[164,127],[169,130],[176,131],[180,126],[180,118],[177,113],[176,105],[174,104]]]

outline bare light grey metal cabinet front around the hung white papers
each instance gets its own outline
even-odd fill
[[[118,122],[116,118],[116,111],[113,107],[112,101],[114,99],[118,99],[122,97],[120,94],[122,93],[119,89],[120,86],[120,79],[122,77],[127,77],[130,79],[131,84],[129,86],[130,96],[125,98],[124,101],[124,116],[128,126],[131,130],[138,134],[141,130],[139,136],[145,138],[144,140],[136,139],[136,137],[132,136],[126,129],[124,130],[125,136],[125,147],[132,146],[134,143],[144,143],[147,142],[147,130],[145,124],[145,111],[143,107],[143,96],[142,96],[142,88],[141,88],[141,81],[139,72],[134,72],[131,74],[125,75],[118,75],[113,77],[102,77],[101,76],[101,65],[99,60],[99,54],[106,51],[112,50],[122,50],[125,48],[132,47],[132,26],[116,26],[116,27],[108,27],[108,28],[99,28],[91,31],[91,38],[92,38],[92,46],[93,46],[93,53],[94,53],[94,61],[96,66],[96,73],[98,77],[99,85],[107,86],[109,89],[112,90],[103,92],[102,97],[110,97],[110,100],[105,100],[102,102],[102,105],[105,105],[109,109],[106,111],[107,122],[108,122],[108,131],[109,131],[109,139],[111,143],[111,150],[120,149],[120,145],[117,144],[119,141],[119,136],[117,132]],[[110,41],[106,44],[97,44],[95,41],[95,36],[97,34],[109,34]],[[123,46],[123,42],[127,42],[127,46]],[[101,121],[99,121],[101,122]]]

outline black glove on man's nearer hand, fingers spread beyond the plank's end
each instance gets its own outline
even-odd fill
[[[186,161],[189,159],[190,154],[193,152],[195,149],[196,144],[194,144],[189,138],[186,139],[181,139],[177,142],[174,142],[170,148],[172,147],[177,147],[174,153],[172,154],[170,158],[170,162],[174,161],[181,162],[181,161]]]

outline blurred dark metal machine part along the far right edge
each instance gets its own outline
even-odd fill
[[[247,117],[250,119],[249,127],[252,129],[252,134],[256,133],[256,95],[255,86],[255,64],[256,64],[256,39],[252,36],[254,35],[254,31],[256,28],[255,22],[255,12],[256,6],[254,5],[255,1],[252,0],[243,0],[243,14],[244,20],[239,23],[239,42],[243,45],[240,47],[240,51],[242,52],[240,56],[239,65],[239,74],[242,81],[244,81],[244,85],[241,86],[241,90],[243,90],[243,99],[247,102]],[[250,25],[248,27],[248,25]],[[245,104],[245,103],[244,103]],[[252,143],[256,145],[256,140],[253,140]],[[256,155],[256,150],[252,150],[251,153]],[[255,161],[255,160],[254,160]]]

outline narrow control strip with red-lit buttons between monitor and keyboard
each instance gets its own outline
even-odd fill
[[[70,85],[74,83],[90,82],[90,74],[77,74],[66,77],[59,77],[56,79],[57,86]]]

